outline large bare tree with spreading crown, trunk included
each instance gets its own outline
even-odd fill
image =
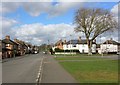
[[[86,37],[89,52],[92,54],[92,42],[96,37],[117,27],[114,16],[103,9],[81,8],[75,15],[75,32],[83,32]]]

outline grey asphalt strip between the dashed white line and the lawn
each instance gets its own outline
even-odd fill
[[[45,55],[40,83],[77,83],[77,81],[54,59]]]

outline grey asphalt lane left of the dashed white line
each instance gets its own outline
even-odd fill
[[[2,63],[3,83],[36,83],[44,54],[27,54]]]

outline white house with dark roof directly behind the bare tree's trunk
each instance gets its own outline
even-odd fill
[[[77,40],[70,40],[63,44],[64,50],[79,50],[80,53],[88,53],[88,45],[85,39],[79,37]],[[92,53],[96,53],[96,41],[92,44]]]

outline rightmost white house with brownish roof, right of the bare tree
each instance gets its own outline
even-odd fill
[[[120,43],[114,41],[112,38],[110,40],[106,40],[104,43],[100,45],[100,49],[98,53],[117,53],[120,51]]]

